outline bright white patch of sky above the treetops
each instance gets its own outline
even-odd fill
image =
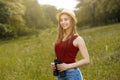
[[[38,0],[40,4],[49,4],[55,6],[57,9],[65,8],[74,10],[76,4],[78,3],[76,0]]]

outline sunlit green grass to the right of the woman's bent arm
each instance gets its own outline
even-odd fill
[[[109,25],[81,33],[91,57],[91,64],[83,68],[86,80],[120,79],[120,24]]]

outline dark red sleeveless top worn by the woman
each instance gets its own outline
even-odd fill
[[[57,60],[61,61],[61,59],[63,58],[62,62],[64,62],[64,63],[73,63],[76,61],[75,58],[76,58],[79,48],[77,48],[73,45],[73,41],[77,37],[78,37],[78,35],[74,35],[69,40],[62,41],[60,43],[55,44],[55,53],[56,53]],[[65,48],[65,46],[66,46],[66,48]],[[64,51],[64,53],[63,53],[63,51]],[[63,57],[63,54],[64,54],[64,57]]]

